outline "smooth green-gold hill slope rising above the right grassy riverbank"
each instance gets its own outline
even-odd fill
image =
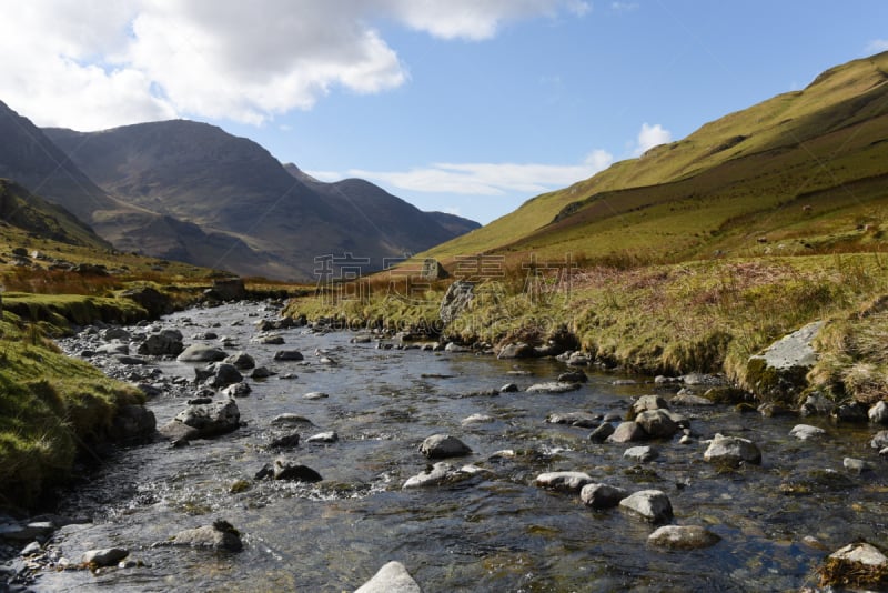
[[[833,68],[426,254],[680,261],[881,241],[888,52]]]

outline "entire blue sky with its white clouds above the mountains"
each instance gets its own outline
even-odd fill
[[[888,50],[885,0],[0,0],[41,127],[184,118],[487,223]]]

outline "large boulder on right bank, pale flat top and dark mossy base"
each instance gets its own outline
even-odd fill
[[[798,395],[808,386],[808,371],[817,363],[814,340],[823,326],[823,321],[809,323],[750,356],[747,388],[765,401],[799,403]]]

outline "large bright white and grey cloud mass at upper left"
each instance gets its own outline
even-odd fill
[[[80,130],[173,117],[263,123],[331,90],[408,80],[373,22],[483,40],[581,0],[121,0],[10,2],[0,97],[40,125]]]

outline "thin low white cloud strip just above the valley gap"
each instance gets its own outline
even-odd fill
[[[351,170],[347,175],[370,179],[404,191],[471,195],[533,195],[589,178],[614,162],[610,153],[595,150],[582,163],[435,163],[410,171]],[[314,175],[314,173],[311,173]]]

